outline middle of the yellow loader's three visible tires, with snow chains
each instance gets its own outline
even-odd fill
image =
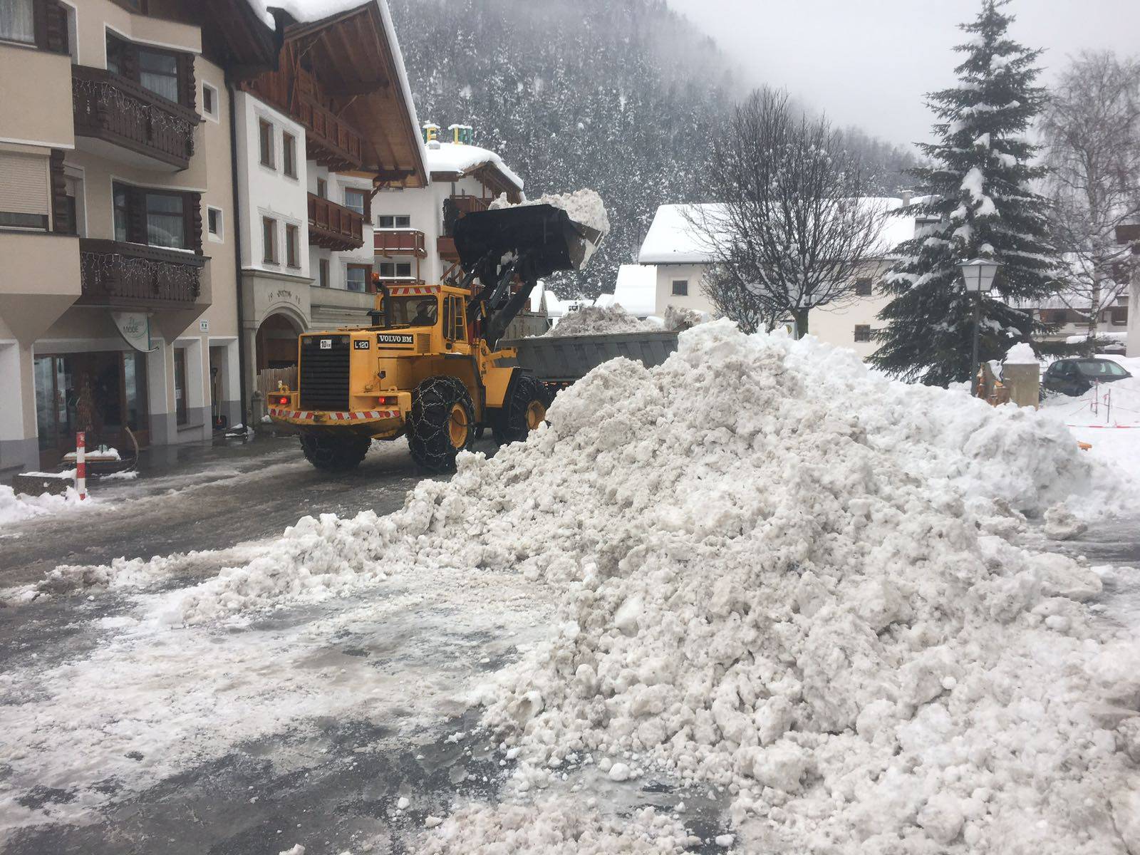
[[[455,377],[427,377],[412,396],[408,448],[429,472],[450,472],[459,451],[475,441],[475,407]]]

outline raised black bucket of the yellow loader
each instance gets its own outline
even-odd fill
[[[512,205],[477,211],[455,223],[455,249],[464,270],[504,255],[526,256],[536,278],[578,270],[602,241],[602,233],[575,222],[554,205]]]

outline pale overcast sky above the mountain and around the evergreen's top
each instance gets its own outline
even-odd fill
[[[667,0],[720,44],[748,83],[785,87],[837,124],[896,142],[927,140],[923,93],[952,85],[979,0]],[[1065,65],[1085,48],[1140,54],[1137,0],[1013,0],[1010,32]],[[1045,76],[1051,72],[1047,71]]]

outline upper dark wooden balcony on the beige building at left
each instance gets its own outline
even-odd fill
[[[113,146],[132,165],[184,170],[198,114],[104,68],[72,66],[75,136]],[[172,170],[172,171],[173,171]]]

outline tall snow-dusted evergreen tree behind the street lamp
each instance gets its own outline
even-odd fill
[[[1041,51],[1008,36],[1008,2],[984,0],[978,17],[960,25],[970,36],[955,48],[966,55],[954,70],[960,82],[928,96],[939,141],[919,146],[933,165],[910,172],[929,195],[907,213],[929,222],[897,250],[885,282],[894,299],[879,314],[887,326],[872,357],[905,380],[945,385],[970,376],[972,299],[961,286],[962,261],[1002,264],[999,290],[983,298],[983,360],[1043,332],[1016,307],[1056,290],[1049,203],[1031,188],[1044,169],[1031,163],[1036,146],[1024,136],[1045,97],[1035,85]]]

